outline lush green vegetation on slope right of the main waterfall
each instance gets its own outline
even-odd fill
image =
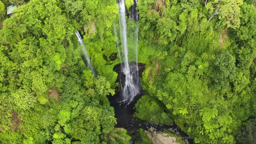
[[[149,42],[139,45],[147,90],[194,142],[235,143],[256,116],[255,3],[144,0],[139,9],[140,40]],[[154,54],[144,52],[153,45]]]

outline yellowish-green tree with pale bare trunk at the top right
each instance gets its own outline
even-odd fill
[[[242,0],[213,0],[208,2],[206,8],[213,12],[208,22],[213,16],[218,15],[220,20],[224,20],[227,27],[238,28],[240,26],[240,6]]]

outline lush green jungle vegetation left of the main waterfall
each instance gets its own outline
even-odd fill
[[[84,14],[76,15],[81,10],[75,11],[68,5],[75,2],[81,4],[80,8],[92,4],[84,8]],[[106,12],[89,10],[98,3]],[[111,85],[116,74],[113,79],[106,79],[104,76],[114,72],[105,74],[106,71],[99,70],[100,76],[94,78],[80,57],[74,35],[75,30],[88,24],[84,21],[97,21],[102,17],[107,21],[107,14],[112,20],[117,6],[114,2],[110,6],[111,3],[106,4],[108,7],[101,1],[31,0],[20,5],[12,18],[5,16],[7,19],[0,31],[1,144],[129,142],[126,130],[114,127],[114,108],[106,97],[114,94]],[[106,26],[101,22],[96,27],[99,37],[105,39],[109,32],[112,34],[112,23]],[[106,27],[111,29],[104,32]],[[100,43],[99,37],[95,37],[92,44]],[[88,48],[91,47],[88,45]]]

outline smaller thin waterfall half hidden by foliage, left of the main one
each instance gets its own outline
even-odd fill
[[[81,35],[79,34],[78,31],[76,31],[76,37],[78,38],[79,44],[82,46],[82,52],[83,52],[83,54],[85,56],[85,59],[86,59],[86,66],[92,71],[92,74],[95,77],[96,75],[95,75],[95,72],[93,70],[92,64],[90,63],[90,57],[88,56],[86,47],[84,46],[83,39],[82,39],[82,37],[81,37]]]

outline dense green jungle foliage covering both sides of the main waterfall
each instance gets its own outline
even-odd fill
[[[107,98],[119,86],[118,10],[116,0],[0,1],[1,144],[129,143]],[[135,116],[175,122],[198,144],[255,143],[256,1],[138,0],[138,10],[147,94]]]

